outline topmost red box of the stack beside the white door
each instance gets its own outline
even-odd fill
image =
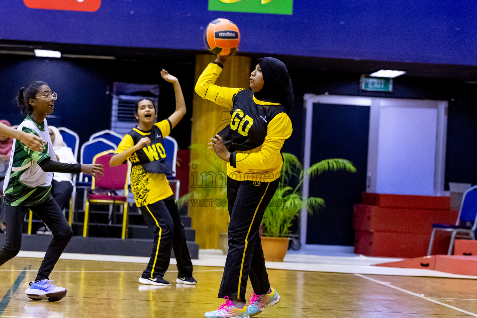
[[[450,210],[449,196],[432,195],[389,195],[363,192],[361,203],[382,207],[411,209]]]

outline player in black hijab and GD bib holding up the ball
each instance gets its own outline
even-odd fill
[[[228,107],[230,124],[211,139],[209,148],[227,161],[227,198],[230,223],[228,255],[218,292],[225,302],[208,318],[247,318],[280,301],[270,287],[259,236],[265,208],[280,181],[281,147],[292,132],[288,112],[293,89],[285,64],[266,57],[250,73],[250,90],[214,85],[227,57],[218,56],[197,80],[196,92]],[[254,289],[245,306],[247,280]]]

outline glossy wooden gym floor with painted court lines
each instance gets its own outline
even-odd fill
[[[221,301],[222,268],[195,267],[199,284],[175,283],[176,266],[166,273],[170,287],[141,285],[145,264],[60,260],[50,279],[66,287],[57,303],[33,301],[24,291],[41,258],[16,257],[0,268],[0,317],[142,318],[203,317]],[[477,317],[477,280],[354,275],[269,270],[281,295],[260,318],[458,318]],[[248,292],[252,288],[249,284]]]

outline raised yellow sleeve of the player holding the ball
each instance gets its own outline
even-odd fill
[[[202,98],[208,99],[220,106],[232,108],[235,95],[243,88],[214,85],[221,72],[222,68],[218,64],[209,63],[204,72],[200,74],[195,91]]]

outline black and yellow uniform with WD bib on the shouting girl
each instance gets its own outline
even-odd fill
[[[177,260],[179,277],[192,277],[192,261],[186,242],[186,232],[181,223],[179,210],[166,174],[164,137],[171,132],[171,122],[166,119],[155,123],[150,131],[137,127],[127,133],[116,150],[116,154],[133,147],[141,138],[149,137],[151,144],[134,152],[131,162],[131,189],[136,205],[141,210],[149,229],[155,233],[154,246],[142,277],[164,277],[169,267],[171,249]]]

